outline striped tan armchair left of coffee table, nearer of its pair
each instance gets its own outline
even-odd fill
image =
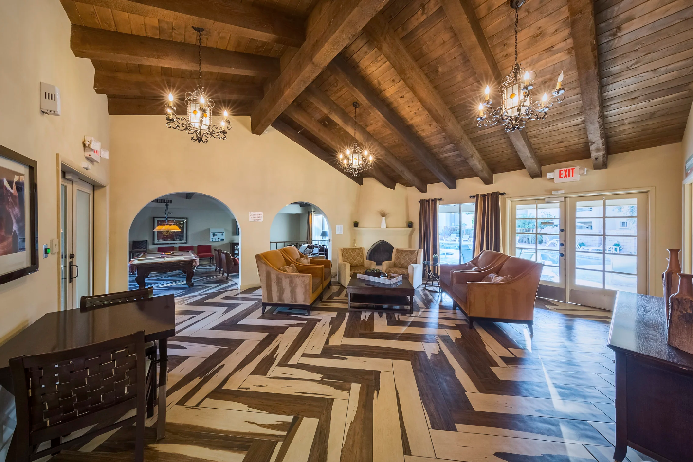
[[[279,268],[290,265],[279,250],[270,250],[255,256],[262,286],[262,312],[267,306],[286,306],[308,310],[313,302],[322,296],[324,289],[324,269],[320,265],[301,265],[294,263],[298,274],[281,271]],[[321,297],[322,299],[322,297]]]

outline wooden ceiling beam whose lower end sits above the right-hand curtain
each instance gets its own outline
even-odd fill
[[[376,15],[364,28],[374,44],[385,55],[385,58],[394,67],[405,85],[409,87],[419,103],[430,114],[435,123],[441,127],[455,148],[466,159],[469,166],[484,181],[484,184],[493,184],[493,172],[486,165],[479,152],[462,129],[441,96],[433,87],[426,74],[423,73],[414,57],[397,36],[383,15]]]

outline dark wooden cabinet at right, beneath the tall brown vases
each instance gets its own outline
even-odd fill
[[[662,462],[693,458],[693,355],[667,344],[664,299],[618,292],[608,346],[616,358],[616,447]]]

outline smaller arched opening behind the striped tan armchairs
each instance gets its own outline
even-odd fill
[[[303,254],[331,256],[332,231],[325,213],[309,202],[282,208],[270,226],[270,250],[293,245]]]

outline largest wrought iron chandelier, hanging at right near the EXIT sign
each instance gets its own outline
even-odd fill
[[[525,122],[538,121],[546,118],[549,108],[563,101],[563,72],[559,75],[556,89],[551,96],[544,94],[541,100],[535,101],[532,96],[536,74],[526,71],[518,63],[518,10],[525,0],[511,0],[510,7],[515,10],[515,64],[510,73],[500,84],[500,106],[493,107],[490,98],[491,89],[486,85],[484,103],[479,105],[477,126],[480,128],[503,125],[506,132],[514,132],[525,128]]]

